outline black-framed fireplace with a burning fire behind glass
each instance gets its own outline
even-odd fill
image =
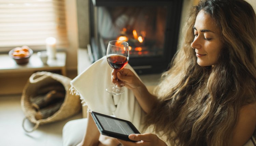
[[[177,48],[182,0],[89,0],[91,61],[110,40],[129,43],[129,64],[138,74],[161,73]]]

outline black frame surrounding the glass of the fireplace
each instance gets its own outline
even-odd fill
[[[129,59],[129,64],[138,74],[161,73],[168,66],[176,53],[179,38],[180,20],[183,0],[89,0],[90,44],[88,45],[91,61],[94,62],[104,56],[106,48],[95,35],[95,7],[97,6],[166,6],[167,20],[164,40],[163,56],[136,57]]]

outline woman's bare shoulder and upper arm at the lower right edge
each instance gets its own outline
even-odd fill
[[[239,111],[237,125],[233,130],[233,146],[245,144],[253,135],[256,126],[256,103],[243,106]]]

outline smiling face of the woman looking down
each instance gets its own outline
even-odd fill
[[[210,15],[201,10],[194,25],[194,41],[191,47],[195,49],[197,63],[199,66],[213,66],[223,43],[221,41],[220,29],[215,25]]]

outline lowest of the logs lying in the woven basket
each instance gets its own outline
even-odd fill
[[[59,103],[49,105],[49,106],[39,110],[35,114],[35,119],[36,120],[41,120],[41,119],[45,119],[49,116],[52,116],[54,113],[56,113],[59,110],[61,105],[62,105],[62,102],[59,102]]]

